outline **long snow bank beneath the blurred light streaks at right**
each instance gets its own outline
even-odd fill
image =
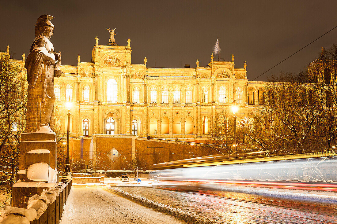
[[[232,191],[248,194],[259,194],[267,196],[284,197],[291,199],[304,199],[310,201],[324,201],[337,203],[337,193],[334,192],[320,192],[320,191],[306,191],[306,190],[292,190],[292,189],[274,189],[261,187],[220,187],[217,188],[222,191]]]

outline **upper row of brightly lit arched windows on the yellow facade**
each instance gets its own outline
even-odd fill
[[[61,96],[61,87],[59,84],[55,84],[54,92],[56,100],[60,100]],[[185,88],[185,103],[192,103],[192,88],[186,87]],[[169,90],[167,87],[163,87],[161,89],[161,100],[162,103],[167,104],[169,99]],[[73,86],[68,84],[66,86],[66,100],[73,101]],[[202,103],[208,103],[209,99],[209,90],[207,86],[202,87],[201,90],[201,100]],[[220,86],[219,87],[219,102],[226,103],[227,102],[226,96],[226,87]],[[83,87],[83,101],[89,102],[90,101],[90,86],[85,85]],[[242,89],[238,87],[236,89],[236,101],[237,103],[242,103]],[[117,81],[115,79],[109,79],[106,82],[106,102],[108,103],[117,103]],[[181,103],[181,89],[179,87],[175,87],[173,89],[173,102],[175,104]],[[140,88],[138,86],[133,88],[133,103],[140,103]],[[150,88],[150,103],[157,103],[157,88],[151,87]]]

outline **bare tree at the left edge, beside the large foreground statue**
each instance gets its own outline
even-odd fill
[[[18,172],[20,134],[24,128],[25,75],[9,55],[0,55],[0,194],[8,203]]]

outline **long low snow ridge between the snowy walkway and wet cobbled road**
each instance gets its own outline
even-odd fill
[[[131,199],[133,201],[136,201],[146,207],[155,209],[159,212],[166,213],[168,215],[175,216],[183,221],[189,222],[189,223],[194,223],[194,224],[220,224],[220,222],[217,221],[212,221],[209,218],[206,218],[205,216],[198,216],[186,211],[183,211],[179,208],[173,208],[171,206],[167,206],[165,204],[162,204],[160,202],[155,202],[153,200],[147,199],[145,197],[137,196],[135,194],[130,194],[125,191],[119,190],[118,188],[114,187],[111,188],[109,185],[105,185],[104,188],[110,189],[113,192],[126,197],[128,199]]]

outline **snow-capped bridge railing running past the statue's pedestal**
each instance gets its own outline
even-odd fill
[[[58,224],[71,188],[71,179],[58,183],[41,195],[31,196],[27,208],[7,207],[0,217],[1,224]]]

